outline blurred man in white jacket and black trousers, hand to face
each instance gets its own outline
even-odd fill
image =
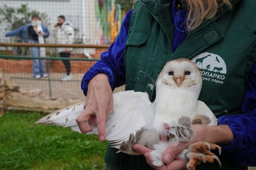
[[[75,39],[75,33],[72,26],[72,23],[65,21],[65,17],[63,15],[58,16],[58,23],[54,25],[56,28],[56,36],[58,44],[72,44]],[[60,53],[61,57],[70,58],[70,52],[72,48],[57,48],[57,51]],[[61,78],[61,81],[69,81],[72,79],[72,75],[70,73],[71,66],[70,60],[62,60],[65,68],[66,75]]]

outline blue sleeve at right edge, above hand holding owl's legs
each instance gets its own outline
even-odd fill
[[[221,155],[244,166],[256,166],[256,63],[248,77],[241,113],[221,116],[218,125],[229,125],[234,141],[221,147]]]

